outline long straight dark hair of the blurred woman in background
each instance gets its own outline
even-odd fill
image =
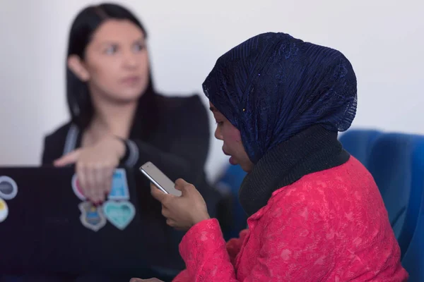
[[[95,30],[105,22],[105,20],[119,19],[130,20],[143,31],[147,38],[147,32],[141,22],[126,8],[117,4],[100,4],[84,8],[71,26],[69,34],[68,53],[66,59],[71,55],[77,55],[84,59],[86,47],[90,43]],[[148,87],[139,99],[139,108],[151,109],[154,101],[154,88],[149,73]],[[86,82],[81,81],[67,66],[66,63],[66,99],[68,102],[71,120],[80,128],[86,128],[93,118],[94,108],[91,101],[90,92]]]

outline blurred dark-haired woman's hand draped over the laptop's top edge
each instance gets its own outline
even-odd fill
[[[76,149],[57,159],[54,166],[76,164],[76,175],[83,195],[97,204],[109,194],[114,169],[124,154],[124,142],[108,135],[92,147]]]

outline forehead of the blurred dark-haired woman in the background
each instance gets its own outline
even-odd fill
[[[144,39],[140,27],[129,20],[106,20],[94,32],[92,42],[126,42]]]

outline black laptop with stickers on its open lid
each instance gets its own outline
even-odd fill
[[[0,274],[136,275],[148,266],[133,172],[115,170],[99,210],[83,204],[74,174],[0,167]]]

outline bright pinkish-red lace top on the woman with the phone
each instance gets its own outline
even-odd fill
[[[370,173],[353,157],[275,192],[225,244],[218,221],[193,226],[175,282],[406,281],[399,245]]]

